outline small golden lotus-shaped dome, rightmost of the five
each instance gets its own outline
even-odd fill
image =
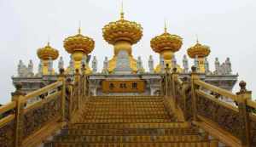
[[[201,43],[197,41],[195,46],[187,50],[187,53],[189,54],[189,57],[193,59],[196,55],[198,58],[204,58],[211,53],[211,50],[210,47],[208,47],[207,45],[201,45]]]

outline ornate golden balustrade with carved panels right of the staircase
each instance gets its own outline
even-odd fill
[[[256,102],[251,99],[246,83],[240,82],[241,90],[231,93],[201,81],[192,67],[190,77],[178,78],[173,69],[167,95],[183,111],[186,121],[201,127],[216,139],[230,146],[256,146]],[[164,80],[165,81],[165,80]],[[166,84],[168,85],[168,84]],[[221,98],[233,99],[234,104]]]

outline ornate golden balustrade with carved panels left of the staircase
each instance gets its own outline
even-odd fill
[[[0,107],[1,147],[36,146],[72,119],[79,109],[79,97],[87,91],[86,76],[81,77],[77,71],[72,82],[66,80],[63,70],[60,72],[57,82],[26,95],[18,85],[12,93],[13,101]],[[38,100],[31,103],[31,99]]]

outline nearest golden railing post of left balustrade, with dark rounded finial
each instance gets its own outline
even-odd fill
[[[20,139],[20,108],[21,108],[21,103],[20,99],[25,95],[25,93],[21,92],[22,85],[20,83],[17,83],[15,85],[16,91],[15,93],[12,93],[12,101],[16,102],[16,110],[15,110],[15,147],[19,147],[21,144],[21,139]]]

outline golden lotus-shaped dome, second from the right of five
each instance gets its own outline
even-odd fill
[[[173,35],[167,32],[165,27],[165,32],[160,36],[154,37],[150,41],[150,46],[153,48],[154,52],[161,53],[165,50],[170,50],[172,52],[177,52],[183,45],[183,38],[177,35]]]

